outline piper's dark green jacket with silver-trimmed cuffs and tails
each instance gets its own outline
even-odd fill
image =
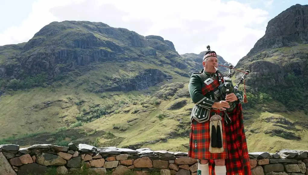
[[[200,74],[205,75],[205,78],[202,78]],[[208,78],[214,79],[215,74],[210,74],[203,71],[202,73],[193,73],[190,77],[188,91],[191,99],[193,100],[193,103],[195,104],[190,116],[191,121],[193,119],[197,120],[198,122],[205,122],[209,120],[210,110],[214,102],[218,102],[221,100],[220,91],[218,88],[214,89],[213,91],[207,92],[205,95],[202,94],[202,88],[205,87],[204,81]],[[223,81],[221,77],[220,79]],[[236,105],[236,103],[241,103],[243,99],[243,95],[240,91],[235,92],[235,95],[237,96],[238,101],[233,102],[233,105]]]

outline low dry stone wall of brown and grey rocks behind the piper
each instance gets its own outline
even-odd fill
[[[249,153],[252,175],[308,175],[307,151]],[[74,143],[67,147],[37,144],[28,148],[0,145],[0,175],[44,174],[53,167],[57,174],[74,174],[82,167],[101,175],[196,175],[198,162],[187,153],[151,149],[95,148]]]

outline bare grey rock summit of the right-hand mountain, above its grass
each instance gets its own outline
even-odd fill
[[[298,44],[308,44],[308,5],[296,4],[271,19],[265,35],[257,41],[247,55]]]

